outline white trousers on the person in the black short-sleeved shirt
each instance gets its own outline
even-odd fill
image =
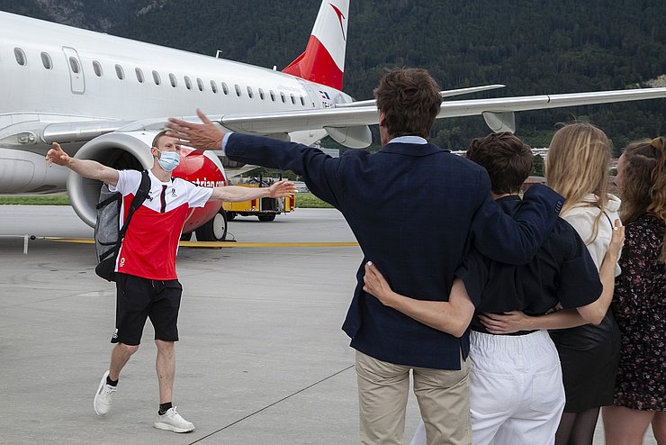
[[[562,368],[547,331],[472,332],[473,445],[554,444],[564,409]],[[420,422],[411,445],[425,445]]]

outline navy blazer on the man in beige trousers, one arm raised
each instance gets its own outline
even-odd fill
[[[433,144],[390,143],[378,153],[330,158],[292,142],[233,133],[229,159],[302,175],[314,195],[343,213],[365,259],[343,330],[356,350],[395,364],[460,369],[469,334],[457,339],[363,291],[367,260],[403,295],[446,301],[473,244],[491,259],[527,263],[550,232],[563,198],[532,186],[514,221],[491,200],[484,168]]]

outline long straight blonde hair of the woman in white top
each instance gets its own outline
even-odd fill
[[[599,221],[608,204],[608,167],[611,142],[605,132],[591,123],[569,123],[555,132],[546,159],[546,179],[566,203],[562,213],[581,205],[599,207],[590,240],[597,239]],[[597,195],[595,202],[584,201]]]

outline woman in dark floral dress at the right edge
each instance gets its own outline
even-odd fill
[[[613,406],[604,406],[608,445],[640,445],[652,423],[666,443],[666,138],[630,145],[616,184],[626,224],[622,275],[611,308],[622,332]]]

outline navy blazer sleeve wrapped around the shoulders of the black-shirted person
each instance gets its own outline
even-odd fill
[[[480,190],[490,190],[482,172]],[[526,264],[545,241],[562,210],[564,198],[547,186],[531,186],[514,217],[488,194],[474,214],[473,245],[485,256],[509,264]]]

